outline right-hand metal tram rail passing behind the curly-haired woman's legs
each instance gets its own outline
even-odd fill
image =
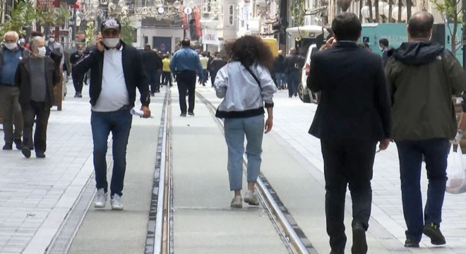
[[[215,118],[215,106],[209,102],[200,92],[196,92],[196,95],[201,101],[207,105],[208,110]],[[217,125],[221,131],[224,132],[223,121],[215,118]],[[247,157],[243,156],[244,163],[243,168],[246,169]],[[275,224],[278,233],[287,244],[288,249],[291,253],[302,253],[302,254],[316,254],[316,249],[313,248],[311,242],[304,234],[304,231],[297,225],[292,217],[292,214],[287,210],[285,205],[282,203],[277,193],[261,173],[256,184],[256,191],[261,200],[263,207],[268,212],[270,219]]]

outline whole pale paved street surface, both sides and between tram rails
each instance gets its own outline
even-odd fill
[[[73,87],[71,82],[68,83],[64,110],[52,110],[46,159],[36,159],[34,154],[30,159],[25,159],[18,150],[0,150],[0,253],[44,253],[65,218],[76,210],[76,202],[85,192],[85,187],[94,185],[87,89],[84,87],[84,98],[73,98]],[[220,103],[212,88],[198,87],[198,91],[213,104]],[[248,243],[251,246],[254,243],[270,242],[269,247],[275,246],[273,249],[277,253],[283,253],[280,238],[273,226],[267,224],[268,219],[260,209],[249,209],[241,214],[229,209],[231,193],[227,188],[226,145],[222,133],[215,129],[217,126],[205,105],[198,99],[196,116],[180,119],[176,85],[172,87],[172,92],[174,204],[178,210],[174,220],[175,244],[179,243],[177,253],[190,253],[189,246],[192,243],[198,244],[198,253],[212,245],[218,248],[217,253],[223,253],[220,251],[222,246],[230,244],[229,248],[238,247],[246,238],[252,239]],[[124,195],[125,211],[115,213],[90,208],[80,228],[73,230],[78,231],[70,253],[102,253],[96,248],[104,248],[107,253],[143,252],[164,96],[163,92],[158,94],[150,106],[156,115],[155,119],[133,118]],[[314,104],[304,104],[297,97],[289,99],[286,92],[277,93],[274,130],[265,135],[264,139],[262,171],[318,253],[328,253],[330,248],[323,214],[324,183],[320,143],[307,134],[315,111]],[[145,147],[142,152],[141,147]],[[189,150],[196,147],[198,150],[189,154]],[[209,165],[202,168],[205,162]],[[465,195],[446,195],[441,225],[447,238],[446,247],[433,248],[426,238],[422,241],[422,248],[417,250],[402,247],[405,222],[402,217],[398,170],[397,150],[392,143],[388,150],[376,155],[373,211],[368,234],[369,253],[466,253]],[[215,179],[215,182],[203,183],[206,177]],[[425,174],[422,181],[425,197]],[[177,183],[181,185],[177,187]],[[347,198],[347,211],[351,210],[350,201]],[[208,215],[199,214],[200,209],[208,211]],[[200,221],[202,216],[208,220]],[[209,224],[209,217],[215,218],[215,223],[210,224],[209,228],[202,228],[203,232],[190,227],[195,225],[194,222]],[[349,212],[346,217],[350,236]],[[240,224],[230,223],[226,226],[232,222],[232,218],[237,218]],[[256,225],[253,227],[256,231],[234,227],[241,223],[251,224],[251,219]],[[232,230],[230,234],[241,230],[243,234],[232,240],[227,238],[227,234],[210,234],[226,227]],[[197,238],[201,233],[203,238]],[[348,238],[347,253],[350,246],[351,237]],[[243,253],[270,252],[264,249],[252,250],[251,247],[251,252],[244,250]]]

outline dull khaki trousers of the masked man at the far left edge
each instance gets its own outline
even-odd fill
[[[13,143],[13,138],[21,139],[23,134],[23,114],[18,97],[18,87],[0,85],[0,113],[3,119],[4,140],[8,143]]]

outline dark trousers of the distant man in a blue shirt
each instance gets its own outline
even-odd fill
[[[177,73],[179,91],[179,108],[186,113],[186,91],[188,91],[188,112],[194,112],[194,97],[196,96],[196,71],[180,71]]]

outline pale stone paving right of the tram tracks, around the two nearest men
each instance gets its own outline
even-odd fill
[[[211,88],[202,92],[210,99],[214,96]],[[214,104],[218,104],[218,102],[220,100],[215,99]],[[306,158],[309,164],[315,166],[323,174],[320,140],[308,134],[317,105],[303,103],[298,97],[289,98],[286,90],[278,91],[274,102],[273,134],[279,135],[286,140],[294,150]],[[311,168],[311,165],[309,168]],[[321,185],[324,186],[323,181]],[[376,154],[372,189],[372,224],[376,220],[390,234],[398,238],[401,243],[404,243],[406,226],[402,214],[399,161],[395,143],[391,143],[388,150]],[[424,174],[422,174],[424,204],[426,191],[427,179],[424,169]],[[412,253],[466,253],[465,197],[465,194],[451,195],[446,193],[443,205],[443,222],[441,224],[442,232],[447,240],[446,247],[433,247],[430,239],[424,236],[421,243],[422,248],[409,250]],[[351,202],[351,200],[347,198],[347,202]],[[351,205],[347,204],[346,207],[351,207]],[[371,231],[370,227],[369,231]]]

